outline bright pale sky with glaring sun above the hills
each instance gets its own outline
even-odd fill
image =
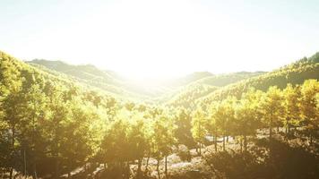
[[[318,39],[316,0],[0,1],[0,50],[136,79],[272,71]]]

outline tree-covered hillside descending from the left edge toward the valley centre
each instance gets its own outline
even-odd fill
[[[106,101],[125,102],[126,98],[121,98],[104,90],[99,90],[89,85],[74,81],[72,78],[61,75],[55,71],[42,70],[39,67],[22,62],[14,58],[12,55],[0,51],[0,84],[1,87],[10,86],[9,81],[14,81],[13,78],[18,78],[21,81],[26,81],[26,85],[38,84],[42,89],[50,90],[50,85],[61,90],[74,90],[82,95],[92,96],[94,98],[103,98]],[[47,86],[47,87],[46,87]],[[0,89],[3,91],[4,89]],[[1,94],[0,94],[1,96]]]

